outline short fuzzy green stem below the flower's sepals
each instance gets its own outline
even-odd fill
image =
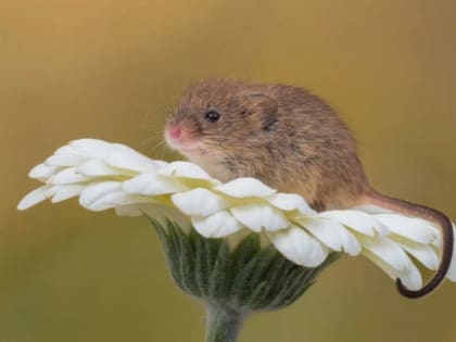
[[[207,306],[205,342],[236,342],[244,315],[219,305]]]

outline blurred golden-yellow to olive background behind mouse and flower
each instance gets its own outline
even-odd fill
[[[202,341],[152,227],[76,201],[18,213],[29,168],[68,140],[156,143],[205,76],[287,83],[356,132],[372,183],[456,219],[456,2],[43,0],[0,2],[0,342]],[[402,299],[345,257],[240,341],[456,341],[456,284]]]

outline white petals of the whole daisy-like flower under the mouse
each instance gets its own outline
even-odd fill
[[[410,256],[436,269],[442,252],[439,227],[420,218],[370,206],[317,213],[301,195],[279,193],[257,179],[221,183],[194,164],[153,161],[97,139],[58,149],[29,176],[43,186],[27,194],[20,210],[47,199],[79,197],[80,205],[91,211],[167,216],[182,226],[191,221],[207,238],[250,230],[302,266],[318,266],[332,251],[363,254],[411,290],[419,289],[422,279]],[[456,252],[447,277],[456,281]]]

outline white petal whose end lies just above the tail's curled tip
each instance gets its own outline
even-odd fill
[[[366,251],[372,253],[397,271],[405,271],[411,265],[411,261],[404,250],[389,238],[359,237],[359,242],[363,245],[364,254]]]

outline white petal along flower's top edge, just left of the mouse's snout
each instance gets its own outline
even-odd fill
[[[156,172],[160,166],[150,157],[121,143],[113,144],[113,150],[104,161],[111,166],[137,173]]]

